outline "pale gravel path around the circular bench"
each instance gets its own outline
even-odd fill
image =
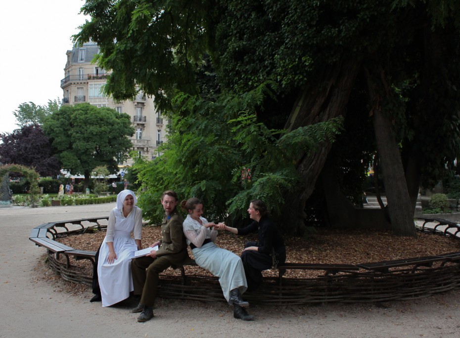
[[[254,322],[232,317],[226,304],[158,299],[155,318],[136,321],[133,300],[102,308],[37,278],[44,248],[29,240],[44,222],[108,215],[114,203],[0,208],[0,337],[459,337],[460,289],[405,302],[251,306]]]

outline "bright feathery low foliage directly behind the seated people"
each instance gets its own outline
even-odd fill
[[[146,188],[138,203],[150,222],[161,219],[159,201],[167,189],[176,190],[182,199],[198,197],[206,216],[215,221],[230,213],[230,222],[240,222],[254,198],[265,200],[279,213],[283,194],[301,185],[295,169],[299,152],[333,141],[342,119],[289,133],[269,129],[249,113],[257,109],[267,90],[263,85],[245,95],[221,96],[217,102],[178,94],[179,114],[173,117],[162,156],[151,162],[138,159],[133,165]]]

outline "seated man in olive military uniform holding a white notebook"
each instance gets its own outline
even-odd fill
[[[133,259],[134,294],[141,295],[137,307],[131,312],[142,312],[138,322],[146,322],[153,317],[159,274],[173,264],[179,264],[188,256],[185,242],[182,216],[177,211],[179,202],[175,191],[167,190],[161,197],[165,217],[161,225],[161,240],[152,245],[158,245],[158,251],[152,250],[148,255]]]

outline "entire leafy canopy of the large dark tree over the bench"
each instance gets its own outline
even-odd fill
[[[113,71],[106,92],[121,100],[142,90],[175,115],[161,159],[137,164],[139,180],[148,187],[141,196],[148,215],[162,214],[159,196],[168,188],[202,198],[207,208],[214,208],[212,202],[216,215],[222,215],[223,205],[245,210],[252,195],[247,191],[263,191],[262,183],[276,196],[271,206],[282,203],[280,196],[297,184],[292,168],[304,153],[290,158],[295,147],[277,152],[281,126],[296,96],[317,89],[327,97],[309,97],[311,105],[296,122],[322,120],[328,109],[343,110],[347,119],[351,115],[353,123],[345,120],[346,135],[331,157],[341,171],[342,191],[356,199],[375,154],[364,115],[374,104],[363,76],[367,71],[379,85],[381,107],[401,145],[403,161],[393,162],[407,167],[416,159],[416,183],[421,174],[430,186],[446,175],[446,163],[460,156],[459,1],[87,0],[83,12],[91,20],[75,38],[100,46],[96,61]],[[349,89],[335,87],[337,74],[350,71],[344,67],[347,60],[361,67],[349,74],[353,89],[347,106],[338,107],[337,97]],[[263,91],[268,81],[270,95]],[[240,93],[240,100],[229,92]],[[275,101],[283,104],[270,105]],[[298,132],[308,144],[308,135]],[[286,146],[296,136],[289,137]],[[252,180],[241,181],[241,171],[248,168]],[[226,204],[226,196],[238,194]]]

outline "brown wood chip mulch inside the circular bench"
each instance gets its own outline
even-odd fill
[[[142,246],[147,247],[161,238],[160,226],[147,225],[142,228]],[[70,235],[57,240],[75,249],[96,251],[105,236],[105,230],[91,233]],[[257,240],[253,236],[237,236],[228,231],[220,232],[216,244],[239,255],[244,243]],[[422,257],[460,251],[460,240],[437,234],[418,233],[417,238],[393,236],[390,231],[382,230],[350,230],[322,228],[304,238],[285,238],[287,259],[290,263],[323,263],[323,264],[359,264],[396,260],[403,258]],[[189,255],[193,254],[188,249]],[[92,264],[88,260],[75,261],[71,264],[92,275]],[[209,272],[199,267],[185,267],[187,275],[210,276]],[[169,268],[165,275],[180,275],[179,270]],[[289,270],[284,275],[288,278],[315,278],[323,275],[323,271]],[[264,276],[277,276],[277,272],[267,270]]]

